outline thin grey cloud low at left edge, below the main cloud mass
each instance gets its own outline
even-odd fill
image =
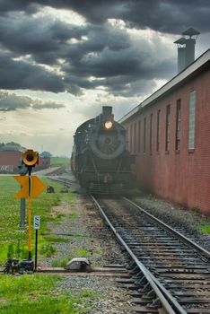
[[[18,96],[15,93],[0,92],[0,111],[14,111],[16,109],[60,109],[63,104],[53,101],[33,100],[31,97]]]

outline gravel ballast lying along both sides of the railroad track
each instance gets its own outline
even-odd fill
[[[41,260],[39,266],[52,266],[55,260],[64,258],[70,260],[83,253],[93,267],[102,267],[109,264],[127,265],[127,256],[113,238],[109,227],[101,219],[98,209],[92,204],[89,196],[76,193],[76,203],[69,205],[62,202],[61,205],[52,208],[53,213],[64,214],[61,223],[48,222],[53,234],[66,239],[65,242],[54,243],[56,253],[53,257]],[[200,226],[206,225],[209,218],[201,217],[197,213],[189,212],[179,206],[171,205],[151,196],[135,197],[134,202],[141,205],[149,213],[154,214],[163,222],[170,224],[180,232],[188,232],[192,240],[210,249],[210,236],[200,232]],[[61,288],[67,292],[81,292],[91,290],[100,293],[100,298],[93,301],[93,307],[89,314],[124,314],[132,313],[132,305],[129,303],[129,292],[116,282],[114,277],[97,277],[90,275],[66,276]],[[83,305],[81,305],[83,307]],[[129,310],[130,309],[130,310]]]

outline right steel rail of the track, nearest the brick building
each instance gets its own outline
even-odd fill
[[[179,237],[180,240],[183,240],[185,243],[188,244],[188,246],[190,246],[192,249],[196,249],[200,254],[204,255],[206,258],[210,259],[210,252],[207,251],[206,249],[203,249],[202,247],[200,247],[197,243],[193,242],[192,240],[189,240],[187,237],[185,237],[183,234],[181,234],[179,231],[176,231],[174,229],[172,229],[168,224],[162,222],[160,219],[156,218],[153,216],[153,214],[149,214],[148,212],[146,212],[144,210],[144,208],[142,208],[139,205],[136,205],[136,203],[134,203],[133,201],[131,201],[130,199],[128,199],[127,197],[123,197],[123,199],[125,199],[128,203],[130,203],[131,205],[134,205],[136,208],[138,208],[139,210],[141,210],[144,214],[146,214],[147,216],[149,216],[151,219],[153,219],[153,221],[158,222],[159,224],[162,225],[162,227],[164,229],[166,229],[167,231],[170,231],[171,233],[175,234],[176,236]]]

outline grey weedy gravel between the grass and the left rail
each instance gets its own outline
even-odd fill
[[[64,258],[70,260],[78,255],[84,255],[91,261],[92,267],[103,267],[111,264],[127,264],[127,257],[121,251],[118,242],[113,238],[109,227],[102,221],[101,216],[89,196],[75,194],[76,203],[52,207],[51,213],[64,214],[61,222],[48,222],[53,235],[67,241],[55,242],[56,252],[52,257],[42,258],[39,267],[52,266],[56,261]],[[96,293],[92,310],[89,314],[129,314],[133,311],[129,304],[130,296],[116,282],[115,277],[78,275],[65,276],[60,287],[67,292],[92,291]],[[100,297],[97,295],[100,294]],[[81,304],[81,308],[85,307]]]

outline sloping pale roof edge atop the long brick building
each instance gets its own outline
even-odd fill
[[[129,118],[133,118],[137,112],[143,109],[145,106],[152,105],[155,101],[160,100],[167,93],[172,92],[174,89],[178,88],[179,85],[188,81],[191,77],[197,75],[197,73],[203,71],[206,66],[210,65],[210,49],[197,58],[191,65],[188,65],[182,72],[174,76],[171,81],[164,84],[159,90],[154,92],[151,96],[141,102],[136,108],[130,110],[127,115],[120,118],[118,123],[123,123]]]

